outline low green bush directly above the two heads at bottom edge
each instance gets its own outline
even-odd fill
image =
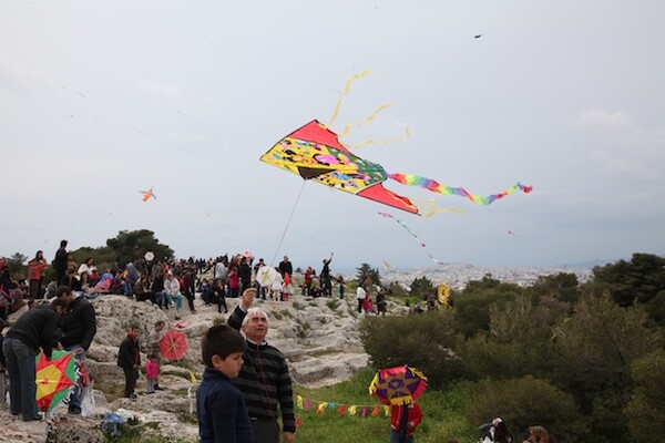
[[[467,412],[468,422],[480,425],[495,416],[505,421],[515,441],[521,441],[534,424],[550,430],[559,443],[591,441],[585,436],[586,429],[573,396],[533,377],[477,385]]]

